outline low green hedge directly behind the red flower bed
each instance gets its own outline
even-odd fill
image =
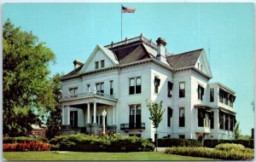
[[[18,136],[18,137],[3,137],[3,143],[22,143],[22,142],[47,142],[43,137],[30,137],[30,136]]]

